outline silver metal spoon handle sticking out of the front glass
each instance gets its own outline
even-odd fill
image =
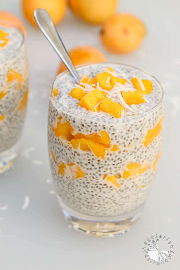
[[[57,32],[56,26],[54,25],[51,17],[49,16],[49,13],[45,9],[37,8],[34,11],[34,18],[40,30],[43,32],[46,39],[49,41],[50,45],[53,47],[57,55],[63,61],[64,65],[69,70],[71,75],[74,77],[76,82],[79,83],[80,77]]]

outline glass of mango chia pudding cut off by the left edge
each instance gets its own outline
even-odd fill
[[[0,20],[0,173],[17,156],[28,99],[28,63],[23,33]]]

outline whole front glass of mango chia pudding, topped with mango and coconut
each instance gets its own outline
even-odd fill
[[[163,90],[138,68],[96,63],[53,83],[49,160],[65,218],[88,235],[111,237],[140,217],[161,155]]]

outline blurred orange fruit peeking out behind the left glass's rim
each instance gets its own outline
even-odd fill
[[[14,26],[18,27],[24,36],[26,36],[26,29],[21,20],[16,17],[14,14],[8,11],[0,11],[0,19],[3,19],[5,21],[8,21],[9,23],[12,23]],[[1,22],[2,25],[2,22]]]

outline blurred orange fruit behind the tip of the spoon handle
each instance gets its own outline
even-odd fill
[[[34,26],[38,27],[33,12],[36,8],[43,8],[51,16],[55,25],[60,23],[66,14],[66,0],[22,0],[22,11],[26,19]]]

